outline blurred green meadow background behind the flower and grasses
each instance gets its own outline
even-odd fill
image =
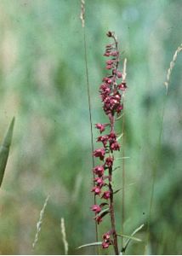
[[[0,190],[0,253],[64,254],[60,218],[70,254],[92,254],[95,241],[88,96],[78,0],[0,1],[0,142],[15,116],[9,162]],[[115,31],[128,58],[126,108],[125,235],[145,224],[156,168],[147,253],[180,254],[182,180],[182,59],[171,76],[165,107],[164,82],[181,44],[180,0],[86,0],[88,73],[94,123],[106,121],[98,89],[105,75],[105,37]],[[118,131],[122,124],[118,125]],[[94,138],[97,137],[94,131]],[[95,148],[98,145],[95,145]],[[118,165],[121,162],[118,160]],[[114,175],[122,186],[122,169]],[[37,246],[37,220],[47,195]],[[116,195],[121,230],[122,192]],[[100,236],[107,231],[100,224]],[[126,253],[143,254],[145,242]],[[102,251],[100,253],[113,253]]]

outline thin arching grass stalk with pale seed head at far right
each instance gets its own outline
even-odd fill
[[[162,107],[162,122],[161,122],[161,128],[160,128],[160,132],[159,132],[159,137],[158,137],[158,146],[157,146],[157,154],[160,152],[161,148],[162,148],[162,131],[163,131],[163,120],[164,120],[164,114],[165,114],[165,108],[166,108],[166,103],[167,103],[167,96],[168,96],[168,84],[170,82],[170,78],[171,78],[171,74],[173,71],[173,67],[175,65],[175,61],[177,60],[177,57],[179,55],[179,53],[182,51],[182,44],[179,45],[179,47],[175,50],[174,54],[173,54],[173,59],[169,64],[168,67],[168,72],[167,72],[167,79],[166,82],[164,83],[164,85],[166,86],[166,95],[164,96],[163,99],[163,107]],[[159,163],[159,158],[157,158],[156,160],[156,164],[152,169],[152,183],[151,183],[151,198],[150,198],[150,207],[149,207],[149,218],[147,221],[147,236],[146,236],[146,241],[145,241],[145,253],[147,254],[147,245],[149,243],[150,240],[150,223],[151,223],[151,211],[152,211],[152,204],[153,204],[153,200],[154,200],[154,192],[155,192],[155,183],[156,183],[156,170],[157,170],[157,166]]]

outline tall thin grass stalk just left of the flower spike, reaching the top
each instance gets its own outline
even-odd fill
[[[82,32],[83,32],[83,44],[84,44],[84,60],[85,60],[85,75],[87,80],[87,93],[88,93],[88,111],[89,111],[89,124],[90,124],[90,133],[91,133],[91,151],[94,152],[94,135],[93,135],[93,120],[91,112],[91,100],[90,100],[90,86],[89,86],[89,77],[88,77],[88,58],[87,58],[87,40],[85,32],[85,1],[81,0],[81,15],[82,20]],[[94,168],[94,155],[92,154],[92,166]],[[94,185],[95,175],[93,172],[93,185]],[[94,205],[96,205],[96,196],[94,195]],[[98,225],[95,222],[95,238],[98,242]],[[99,248],[97,248],[97,254],[99,254]]]

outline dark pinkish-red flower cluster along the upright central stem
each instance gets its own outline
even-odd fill
[[[117,142],[117,134],[115,132],[115,120],[123,109],[122,94],[127,86],[122,81],[122,73],[118,70],[119,52],[117,50],[117,38],[114,33],[108,32],[107,36],[114,39],[113,44],[106,45],[105,56],[109,58],[106,61],[106,70],[109,71],[100,85],[100,98],[103,103],[103,109],[109,122],[106,124],[96,124],[95,128],[100,131],[100,136],[97,137],[97,142],[101,143],[101,148],[94,150],[94,157],[99,159],[100,165],[95,166],[94,172],[94,188],[92,192],[100,198],[101,203],[91,207],[95,213],[95,221],[97,224],[102,222],[107,213],[113,213],[111,201],[113,200],[113,190],[111,187],[112,167],[114,163],[114,151],[120,150],[120,144]],[[102,135],[106,127],[110,127],[109,133]],[[104,207],[107,206],[107,209]],[[108,208],[109,207],[109,208]],[[103,235],[102,247],[107,248],[113,241],[111,239],[113,231],[109,231]]]

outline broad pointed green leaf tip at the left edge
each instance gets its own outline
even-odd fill
[[[12,119],[9,129],[6,132],[5,137],[3,138],[3,143],[0,147],[0,187],[3,182],[3,175],[6,168],[6,164],[9,158],[9,149],[13,137],[13,130],[14,130],[14,118]]]

